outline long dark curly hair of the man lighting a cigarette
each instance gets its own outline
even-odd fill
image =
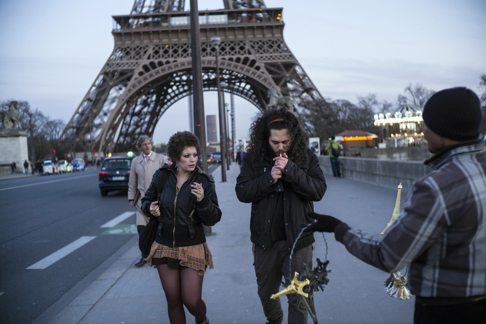
[[[295,163],[301,163],[306,158],[307,137],[299,125],[299,120],[286,108],[268,109],[253,117],[249,130],[248,158],[251,162],[263,162],[265,156],[275,156],[268,143],[270,130],[288,130],[291,143],[287,156]]]

